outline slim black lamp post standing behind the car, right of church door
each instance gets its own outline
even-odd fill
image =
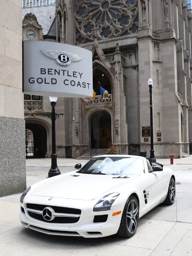
[[[151,77],[148,79],[149,93],[150,93],[150,134],[151,134],[151,150],[150,150],[150,160],[151,162],[156,162],[154,157],[154,147],[153,147],[153,106],[152,106],[152,87],[153,80]]]

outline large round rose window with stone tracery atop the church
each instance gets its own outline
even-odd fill
[[[138,0],[77,0],[76,43],[137,33]]]

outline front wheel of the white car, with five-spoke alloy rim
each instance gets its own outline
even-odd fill
[[[130,196],[123,209],[121,223],[117,232],[118,236],[134,236],[139,221],[139,204],[137,198]]]

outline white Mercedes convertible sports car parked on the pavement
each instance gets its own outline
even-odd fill
[[[23,192],[24,227],[61,236],[131,237],[140,217],[175,201],[172,170],[147,157],[102,155],[75,168]]]

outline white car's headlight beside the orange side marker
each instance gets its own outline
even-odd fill
[[[107,211],[111,209],[111,205],[115,199],[119,196],[119,193],[111,193],[105,195],[99,200],[99,202],[94,206],[93,212]]]

